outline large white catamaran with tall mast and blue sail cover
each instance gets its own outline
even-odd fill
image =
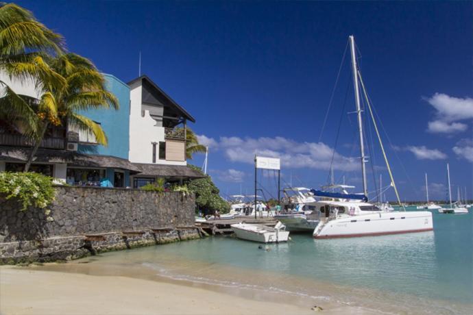
[[[362,110],[360,105],[360,88],[363,89],[363,95],[365,96],[365,107],[369,111],[369,116],[372,118],[374,130],[378,137],[378,142],[383,152],[387,170],[391,179],[391,186],[396,192],[396,198],[398,203],[402,205],[396,184],[391,173],[391,168],[387,160],[387,155],[381,141],[378,127],[374,119],[374,113],[367,97],[367,92],[363,84],[361,72],[356,65],[356,52],[354,37],[350,36],[350,50],[352,56],[352,74],[354,84],[354,97],[356,103],[356,114],[359,129],[359,141],[361,151],[361,173],[363,179],[363,194],[362,195],[350,195],[348,200],[345,201],[328,201],[327,207],[324,209],[325,217],[321,218],[320,223],[315,227],[313,231],[314,238],[347,238],[357,236],[378,236],[384,234],[402,234],[411,232],[421,231],[432,231],[432,213],[428,211],[415,211],[406,212],[404,207],[402,212],[387,212],[380,210],[375,205],[367,203],[367,181],[366,181],[366,169],[365,169],[365,146],[363,137],[363,118]],[[330,192],[327,192],[330,194]],[[337,195],[332,195],[336,198]],[[339,195],[339,198],[343,199],[343,195]]]

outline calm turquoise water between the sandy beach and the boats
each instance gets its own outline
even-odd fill
[[[214,237],[107,253],[94,262],[144,266],[173,279],[335,297],[377,310],[391,310],[383,303],[396,301],[405,314],[473,314],[471,210],[434,213],[433,220],[434,231],[417,234],[334,240],[293,234],[287,244],[263,249]]]

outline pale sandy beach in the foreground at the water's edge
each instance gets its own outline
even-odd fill
[[[286,301],[261,301],[185,283],[14,266],[1,266],[0,274],[0,313],[4,315],[314,313],[311,310],[314,305],[302,307]],[[348,306],[324,308],[323,312],[378,314]]]

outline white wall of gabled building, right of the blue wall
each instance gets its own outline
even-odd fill
[[[130,162],[153,163],[153,144],[156,144],[156,164],[186,165],[186,161],[159,160],[159,142],[165,141],[165,128],[156,126],[156,121],[145,110],[141,115],[141,81],[130,86]],[[146,108],[146,106],[145,106]]]

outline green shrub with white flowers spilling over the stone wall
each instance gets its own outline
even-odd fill
[[[0,194],[18,199],[25,211],[29,205],[45,208],[54,201],[53,179],[38,173],[0,173]],[[49,211],[49,210],[47,210]]]

